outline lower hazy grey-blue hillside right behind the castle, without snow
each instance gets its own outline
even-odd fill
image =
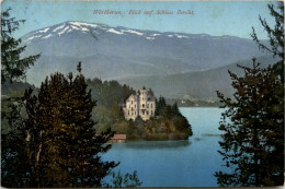
[[[277,62],[272,57],[258,57],[261,68]],[[157,96],[162,95],[168,98],[181,98],[190,101],[217,101],[216,91],[223,92],[227,97],[231,97],[233,88],[228,70],[238,76],[243,75],[243,70],[239,66],[251,67],[252,60],[243,60],[228,66],[219,67],[206,71],[186,72],[180,74],[133,76],[122,78],[119,83],[128,84],[135,88],[146,85],[151,87]]]

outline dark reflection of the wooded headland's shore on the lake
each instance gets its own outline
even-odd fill
[[[140,142],[127,142],[125,146],[127,149],[179,149],[191,145],[189,140],[181,141],[140,141]]]

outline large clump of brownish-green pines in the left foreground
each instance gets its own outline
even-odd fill
[[[102,179],[118,165],[101,158],[101,154],[110,150],[106,142],[114,133],[107,130],[96,134],[91,119],[95,102],[91,99],[91,91],[87,92],[84,76],[81,73],[75,79],[71,73],[68,78],[61,73],[52,74],[42,83],[37,95],[30,88],[22,102],[26,110],[19,130],[23,147],[7,147],[4,164],[13,163],[9,151],[13,151],[15,157],[23,154],[25,166],[16,164],[15,168],[23,168],[27,175],[18,176],[16,185],[7,175],[5,187],[102,186]],[[2,162],[2,167],[7,167]],[[4,174],[13,175],[9,167],[5,169]]]

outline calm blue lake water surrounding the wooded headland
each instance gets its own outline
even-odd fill
[[[223,109],[180,108],[189,119],[193,137],[185,141],[128,142],[114,144],[104,160],[119,161],[115,170],[137,170],[142,187],[217,187],[221,170],[218,123]]]

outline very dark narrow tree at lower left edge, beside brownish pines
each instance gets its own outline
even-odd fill
[[[26,155],[26,131],[23,125],[21,99],[10,99],[8,110],[1,114],[7,119],[9,132],[1,133],[1,186],[22,188],[33,182]]]

